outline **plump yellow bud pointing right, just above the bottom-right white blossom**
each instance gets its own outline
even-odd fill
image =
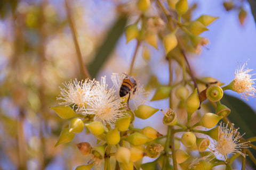
[[[221,120],[221,116],[214,113],[205,113],[200,120],[200,123],[205,128],[213,128]]]

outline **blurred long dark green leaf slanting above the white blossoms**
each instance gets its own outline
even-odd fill
[[[116,21],[112,29],[108,32],[108,35],[105,38],[105,41],[99,48],[98,53],[95,55],[94,61],[90,64],[89,72],[92,78],[94,78],[97,75],[101,66],[103,65],[103,63],[105,63],[108,56],[114,49],[117,40],[119,39],[119,37],[122,35],[124,31],[126,21],[127,21],[127,17],[121,16]]]

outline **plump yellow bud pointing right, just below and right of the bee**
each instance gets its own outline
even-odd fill
[[[157,111],[159,111],[158,108],[150,107],[148,105],[140,105],[135,111],[134,114],[136,117],[139,117],[141,119],[147,119],[150,116],[154,115]]]

